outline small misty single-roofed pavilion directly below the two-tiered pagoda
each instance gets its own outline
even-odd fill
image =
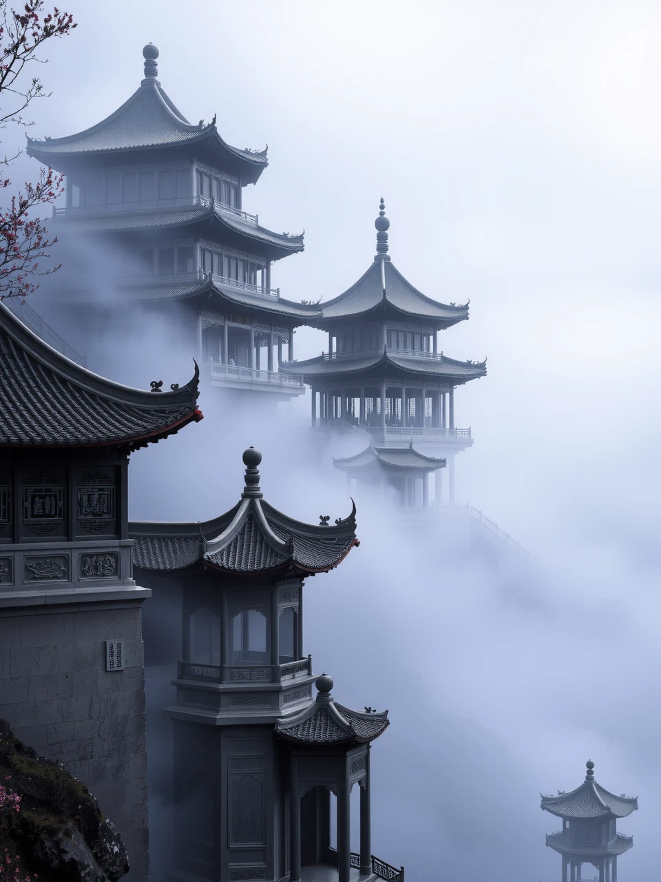
[[[354,456],[333,459],[333,466],[345,473],[350,491],[354,481],[372,492],[394,490],[397,505],[405,508],[429,506],[429,478],[435,475],[434,504],[441,504],[445,460],[413,450],[413,442],[408,447],[369,445]]]

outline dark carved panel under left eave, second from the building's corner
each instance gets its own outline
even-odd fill
[[[28,537],[65,537],[65,472],[26,469],[23,477],[22,533]]]

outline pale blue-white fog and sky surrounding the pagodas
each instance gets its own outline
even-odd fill
[[[269,145],[244,208],[305,251],[273,267],[293,301],[348,288],[375,253],[471,319],[441,335],[487,376],[456,392],[475,444],[470,501],[537,570],[454,560],[431,532],[357,498],[360,548],[309,579],[305,652],[345,704],[390,709],[373,750],[373,850],[412,882],[554,882],[539,792],[584,763],[639,796],[620,878],[657,872],[661,711],[658,488],[661,9],[656,4],[202,2],[67,4],[78,29],[40,69],[35,137],[97,123],[137,88],[141,49],[193,122]],[[7,149],[10,145],[5,143]],[[19,161],[19,177],[36,163]],[[93,269],[93,265],[92,265]],[[93,274],[93,273],[92,273]],[[102,273],[97,294],[104,296]],[[34,296],[39,308],[48,285]],[[67,322],[57,330],[67,335]],[[55,323],[54,323],[55,324]],[[135,329],[134,329],[135,331]],[[192,373],[176,329],[105,334],[91,367],[131,385]],[[297,358],[327,348],[299,329]],[[114,350],[114,351],[113,351]],[[96,362],[94,358],[96,356]],[[316,522],[348,513],[344,476],[308,431],[309,398],[277,414],[221,407],[132,457],[131,519],[206,519],[262,487]],[[152,829],[152,838],[158,831]],[[587,867],[583,873],[586,874]],[[587,875],[590,875],[589,873]]]

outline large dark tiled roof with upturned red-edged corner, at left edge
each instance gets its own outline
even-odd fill
[[[113,383],[50,348],[0,303],[0,446],[126,445],[198,420],[197,381],[173,392]]]

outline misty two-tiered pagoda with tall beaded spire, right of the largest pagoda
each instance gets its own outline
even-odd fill
[[[438,303],[397,270],[383,200],[375,228],[367,273],[308,319],[328,332],[328,352],[281,370],[302,374],[311,387],[313,426],[348,423],[380,447],[408,447],[415,437],[420,449],[446,457],[454,502],[454,457],[472,445],[471,430],[455,425],[455,389],[484,377],[486,363],[439,352],[438,333],[465,321],[468,305]]]

